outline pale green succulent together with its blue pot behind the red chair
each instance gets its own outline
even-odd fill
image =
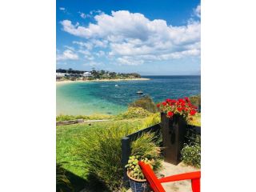
[[[155,161],[154,159],[139,158],[139,156],[130,156],[127,168],[127,176],[130,182],[130,188],[133,192],[148,192],[150,191],[150,186],[146,182],[144,175],[142,174],[141,168],[138,166],[138,161],[145,162],[154,169]]]

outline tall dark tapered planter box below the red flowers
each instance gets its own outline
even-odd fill
[[[186,119],[178,114],[167,118],[166,114],[162,113],[161,124],[164,160],[178,165],[181,162],[181,150],[186,134]]]

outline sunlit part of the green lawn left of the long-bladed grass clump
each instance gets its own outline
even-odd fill
[[[134,127],[142,126],[142,122],[143,118],[137,118],[111,122],[94,122],[90,123],[91,126],[87,123],[57,126],[56,160],[58,163],[66,162],[62,165],[65,170],[78,176],[82,181],[88,181],[90,177],[88,165],[86,165],[85,162],[82,162],[77,154],[79,147],[82,145],[82,138],[85,137],[85,135],[93,134],[98,129],[106,129],[107,127],[118,125],[132,129]],[[70,182],[72,184],[72,181]]]

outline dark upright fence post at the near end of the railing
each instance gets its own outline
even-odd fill
[[[122,169],[123,169],[123,185],[128,187],[128,177],[126,174],[126,164],[128,163],[129,156],[130,156],[130,138],[124,137],[122,138]]]

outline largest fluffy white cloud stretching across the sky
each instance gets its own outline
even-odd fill
[[[199,16],[200,11],[198,6],[195,12]],[[73,42],[86,50],[109,50],[109,56],[123,65],[200,56],[200,22],[190,20],[186,26],[168,26],[165,20],[150,20],[127,10],[112,11],[111,15],[99,13],[94,19],[95,23],[88,26],[63,20],[62,30],[86,38],[86,42]]]

